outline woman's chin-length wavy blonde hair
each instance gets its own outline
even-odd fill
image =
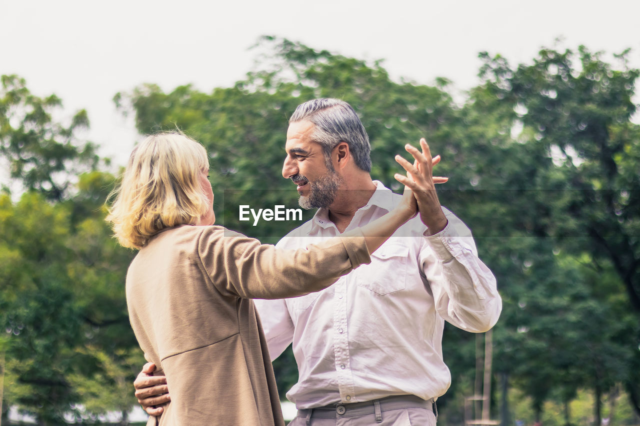
[[[200,143],[179,132],[152,134],[131,152],[106,221],[124,247],[143,248],[164,228],[195,225],[209,209],[198,173],[209,170]]]

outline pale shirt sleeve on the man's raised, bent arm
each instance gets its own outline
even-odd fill
[[[420,265],[431,287],[435,307],[456,327],[483,333],[495,325],[502,299],[495,276],[479,259],[471,231],[444,209],[449,223],[435,235],[424,235]]]

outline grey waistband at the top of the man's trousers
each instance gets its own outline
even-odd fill
[[[298,417],[310,418],[342,418],[376,414],[382,411],[403,408],[426,408],[433,411],[433,399],[424,400],[415,395],[393,395],[387,398],[374,399],[350,404],[330,404],[324,407],[298,410]]]

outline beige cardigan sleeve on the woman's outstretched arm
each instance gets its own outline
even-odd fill
[[[322,290],[359,265],[371,262],[360,235],[284,250],[222,226],[207,226],[198,239],[198,255],[211,285],[221,293],[282,299]]]

